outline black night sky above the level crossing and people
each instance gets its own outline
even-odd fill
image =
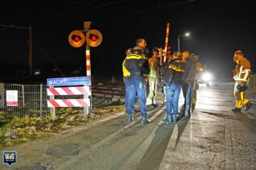
[[[67,74],[85,69],[85,46],[71,47],[68,35],[91,29],[103,35],[91,48],[92,75],[122,75],[121,64],[135,39],[145,38],[148,48],[164,46],[170,23],[169,46],[200,55],[216,75],[231,75],[235,50],[243,50],[256,71],[256,6],[253,1],[7,1],[1,2],[0,24],[28,27],[34,41]],[[27,69],[27,30],[0,27],[0,72]],[[55,66],[33,42],[33,67],[48,72]]]

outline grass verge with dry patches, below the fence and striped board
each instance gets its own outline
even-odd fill
[[[84,117],[83,110],[76,107],[56,109],[55,117],[5,118],[0,115],[0,149],[36,138],[51,137],[70,127],[83,126],[91,121],[123,111],[124,105],[118,105],[93,109],[88,117]]]

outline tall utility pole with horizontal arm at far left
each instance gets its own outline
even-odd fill
[[[9,27],[13,29],[24,29],[29,30],[29,75],[32,76],[32,25],[29,25],[29,27],[17,27],[15,25],[3,25],[0,24],[0,27]]]

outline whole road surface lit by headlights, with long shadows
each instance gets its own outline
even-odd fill
[[[256,104],[233,114],[233,87],[200,87],[196,110],[164,124],[165,106],[148,113],[152,123],[126,123],[126,115],[20,144],[12,169],[256,169]],[[251,92],[247,97],[256,103]],[[161,98],[161,97],[160,97]],[[158,100],[162,103],[160,100]],[[180,95],[180,104],[183,102]],[[0,163],[0,169],[10,169]]]

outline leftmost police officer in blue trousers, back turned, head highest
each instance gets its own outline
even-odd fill
[[[133,121],[132,110],[133,103],[135,102],[136,93],[140,100],[141,107],[141,124],[145,125],[150,123],[147,117],[146,109],[146,78],[148,74],[148,58],[146,54],[146,41],[143,38],[138,38],[136,45],[130,54],[126,57],[124,66],[130,72],[129,80],[127,81],[127,114],[128,123]]]

